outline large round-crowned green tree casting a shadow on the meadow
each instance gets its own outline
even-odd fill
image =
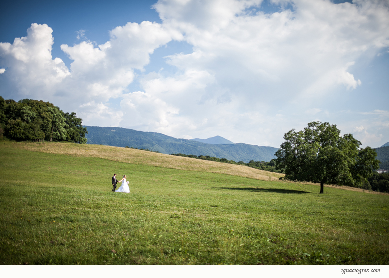
[[[340,136],[336,125],[311,122],[302,131],[285,133],[285,142],[275,153],[276,169],[284,170],[285,178],[294,181],[363,187],[379,161],[376,152],[351,134]]]

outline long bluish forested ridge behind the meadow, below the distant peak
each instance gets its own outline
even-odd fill
[[[182,153],[226,158],[236,162],[270,161],[278,150],[249,144],[206,144],[194,140],[177,139],[161,133],[143,132],[120,127],[85,126],[88,144],[148,149],[164,154]]]

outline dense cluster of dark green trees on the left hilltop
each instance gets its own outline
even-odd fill
[[[50,102],[0,96],[0,137],[16,141],[86,143],[87,130],[76,113],[64,113]]]

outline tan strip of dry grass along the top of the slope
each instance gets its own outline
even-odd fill
[[[17,148],[35,152],[65,154],[80,157],[98,157],[124,163],[143,164],[178,170],[227,174],[263,181],[277,181],[280,177],[284,176],[284,174],[263,171],[243,165],[199,160],[194,158],[154,153],[131,148],[53,142],[22,142],[11,144],[15,144]]]

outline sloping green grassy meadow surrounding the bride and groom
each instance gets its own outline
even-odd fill
[[[0,263],[389,264],[387,194],[170,157],[0,142]]]

